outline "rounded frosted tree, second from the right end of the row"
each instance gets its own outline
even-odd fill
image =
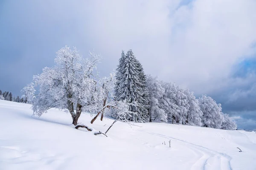
[[[203,112],[201,117],[203,126],[220,129],[224,122],[221,104],[217,104],[211,97],[206,95],[199,97],[198,102]]]

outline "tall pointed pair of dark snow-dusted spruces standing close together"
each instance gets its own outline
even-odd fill
[[[137,102],[138,105],[129,105],[130,113],[127,113],[129,121],[148,122],[148,113],[145,113],[145,79],[140,62],[134,57],[132,50],[126,55],[122,51],[119,65],[116,69],[115,99],[127,103]]]

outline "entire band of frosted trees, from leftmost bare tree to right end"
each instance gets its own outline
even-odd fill
[[[236,123],[222,113],[221,104],[203,95],[196,99],[189,89],[146,75],[132,50],[121,53],[116,74],[100,78],[95,72],[101,55],[81,57],[76,48],[65,46],[56,52],[52,68],[43,68],[33,82],[23,88],[34,115],[49,108],[70,113],[73,125],[82,111],[133,122],[169,122],[172,124],[236,129]],[[39,87],[36,92],[34,87]]]

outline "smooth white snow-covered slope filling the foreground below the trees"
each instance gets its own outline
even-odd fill
[[[256,170],[253,132],[116,122],[108,137],[95,136],[70,125],[69,113],[38,118],[30,107],[0,100],[0,170]],[[102,131],[113,122],[91,119],[79,122]]]

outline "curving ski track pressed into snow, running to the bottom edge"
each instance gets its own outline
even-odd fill
[[[149,132],[147,132],[149,133]],[[151,135],[157,135],[166,139],[173,139],[176,142],[183,144],[185,147],[188,147],[195,152],[202,154],[201,158],[198,159],[191,170],[198,170],[201,167],[201,170],[233,170],[230,165],[230,160],[232,159],[229,155],[225,153],[219,153],[214,150],[210,150],[207,147],[203,147],[197,144],[186,142],[181,139],[173,138],[170,136],[161,135],[159,133],[149,133]],[[188,146],[189,145],[189,146]]]

